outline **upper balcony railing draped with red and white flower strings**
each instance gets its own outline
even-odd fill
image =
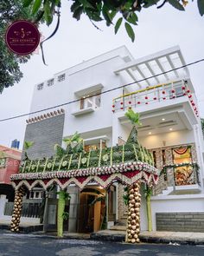
[[[153,103],[175,100],[182,96],[188,96],[188,100],[198,116],[198,109],[195,106],[194,96],[188,89],[187,82],[176,81],[170,83],[158,84],[156,86],[140,89],[135,92],[121,95],[112,102],[112,112],[126,111],[128,108],[140,108]]]

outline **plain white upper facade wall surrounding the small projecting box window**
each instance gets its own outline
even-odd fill
[[[114,73],[116,69],[124,65],[124,56],[129,56],[130,60],[133,59],[125,47],[114,49],[104,55],[97,56],[54,75],[54,85],[50,87],[48,87],[47,81],[44,82],[44,87],[41,90],[37,90],[36,85],[30,111],[33,112],[79,99],[74,94],[76,91],[99,83],[104,86],[103,92],[116,88],[121,83],[131,82],[130,76],[126,73],[123,75],[116,75]],[[66,78],[62,82],[57,82],[57,77],[61,74],[66,74]],[[112,128],[112,99],[121,95],[121,92],[122,89],[117,89],[101,95],[101,108],[97,108],[93,113],[86,115],[77,117],[72,115],[74,111],[80,110],[80,102],[60,107],[66,111],[63,136],[73,135],[75,131],[79,131],[82,134],[101,128]],[[53,110],[46,110],[41,114]]]

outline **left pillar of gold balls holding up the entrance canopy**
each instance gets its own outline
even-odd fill
[[[19,224],[22,215],[22,198],[25,195],[25,188],[20,187],[16,190],[15,200],[14,200],[14,209],[10,224],[10,230],[12,232],[19,232]]]

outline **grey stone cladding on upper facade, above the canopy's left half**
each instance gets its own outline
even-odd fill
[[[27,150],[31,160],[54,155],[54,145],[61,145],[64,120],[65,115],[62,114],[27,125],[24,141],[34,141],[35,143]]]

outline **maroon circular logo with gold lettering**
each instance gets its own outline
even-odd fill
[[[25,56],[37,48],[40,37],[34,23],[20,20],[12,23],[6,30],[5,42],[12,52]]]

